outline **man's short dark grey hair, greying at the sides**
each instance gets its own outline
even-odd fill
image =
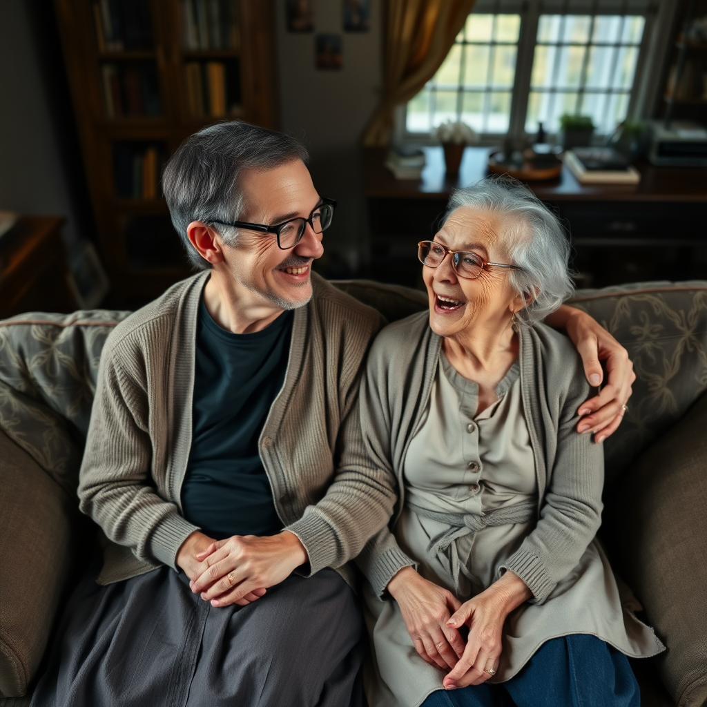
[[[189,223],[203,221],[221,234],[226,245],[234,245],[238,229],[213,222],[238,221],[243,214],[243,171],[269,170],[292,160],[309,160],[300,142],[242,120],[210,125],[182,142],[165,165],[162,189],[172,223],[196,269],[211,266],[189,242]]]

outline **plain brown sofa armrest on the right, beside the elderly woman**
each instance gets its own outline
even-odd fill
[[[707,702],[707,395],[643,452],[604,511],[614,568],[667,645],[654,659],[681,707]]]

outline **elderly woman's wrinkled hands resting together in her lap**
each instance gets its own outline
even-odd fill
[[[421,577],[411,567],[403,568],[390,580],[388,591],[400,607],[420,657],[449,671],[443,679],[446,689],[478,685],[493,677],[501,656],[506,617],[532,596],[518,575],[506,572],[462,604],[452,592]],[[466,641],[460,634],[462,626],[469,629]]]

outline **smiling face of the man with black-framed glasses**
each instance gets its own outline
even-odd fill
[[[239,221],[275,226],[298,216],[308,218],[320,203],[301,160],[271,170],[247,170],[240,183],[245,209]],[[274,233],[239,228],[235,245],[223,245],[223,267],[243,303],[294,309],[310,300],[312,261],[323,252],[322,234],[315,234],[309,224],[302,240],[288,250],[278,247]]]

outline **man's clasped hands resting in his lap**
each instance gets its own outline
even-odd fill
[[[307,561],[300,539],[288,531],[223,540],[197,531],[177,553],[177,564],[189,577],[192,592],[214,607],[255,602]]]

